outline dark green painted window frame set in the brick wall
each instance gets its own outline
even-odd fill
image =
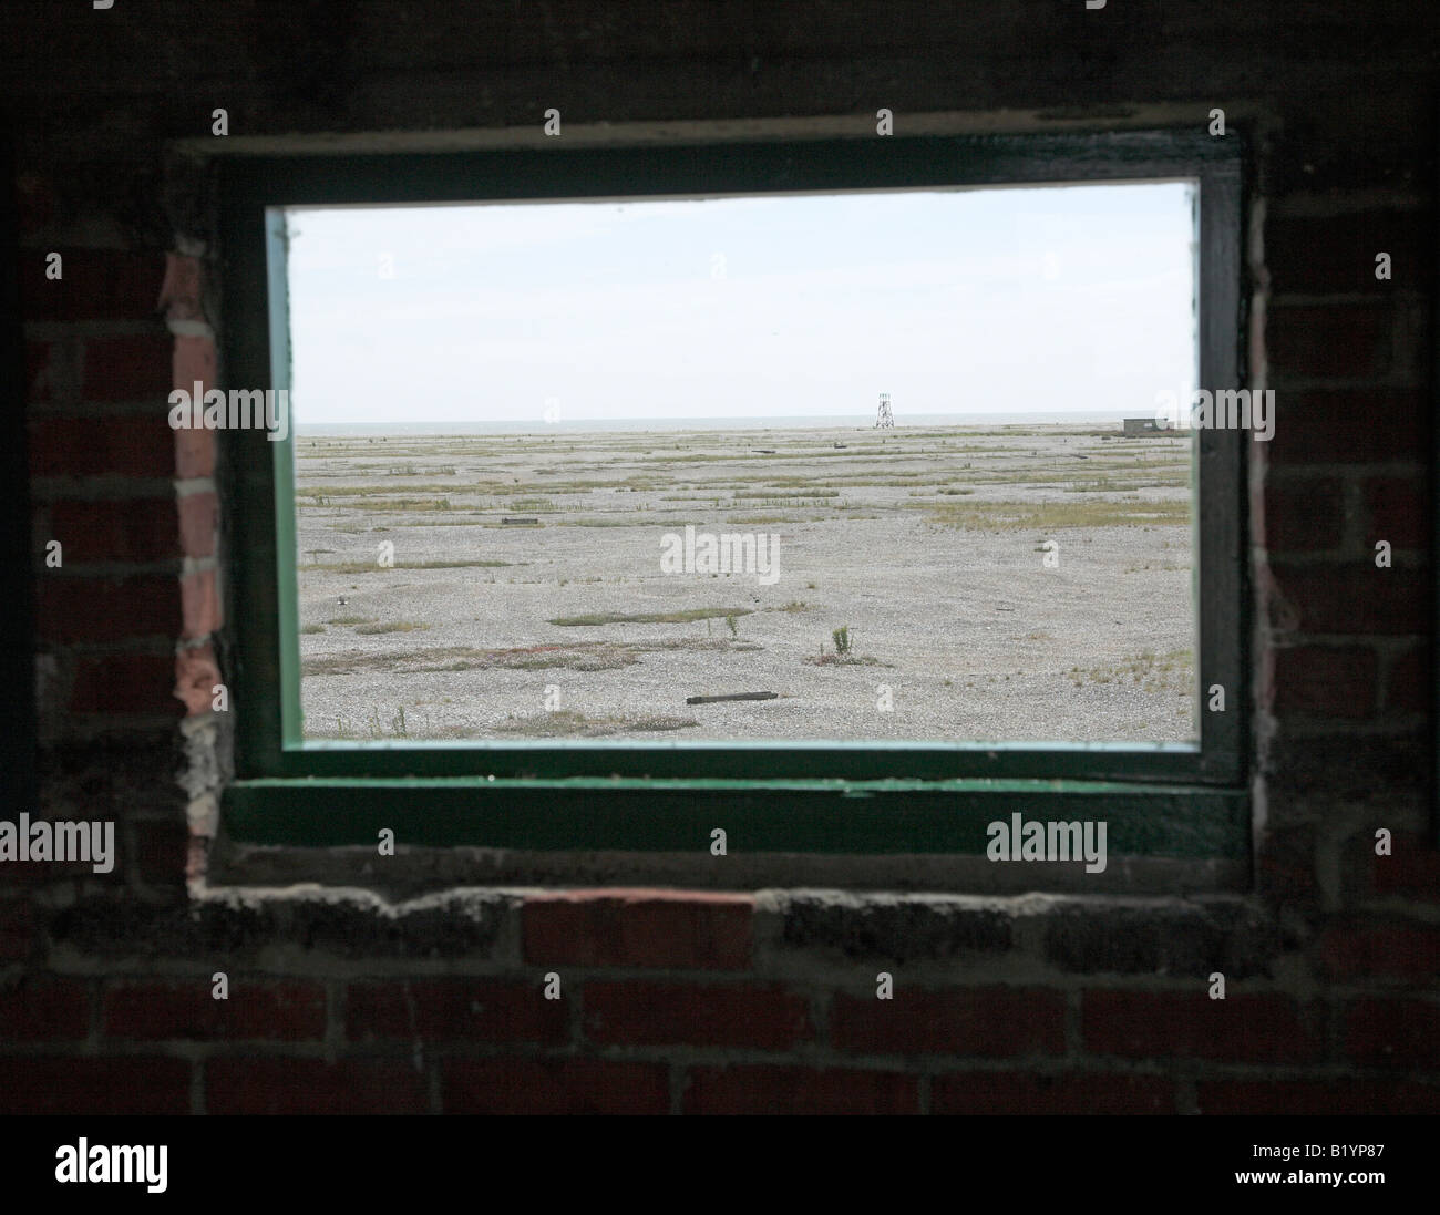
[[[295,154],[219,166],[228,384],[289,374],[279,209],[347,203],[684,197],[937,186],[1191,179],[1198,183],[1200,387],[1243,387],[1241,184],[1236,135],[1194,131],[927,135]],[[252,844],[690,851],[716,822],[749,852],[984,854],[988,822],[1103,818],[1112,857],[1248,857],[1246,445],[1201,430],[1194,512],[1198,744],[304,740],[294,453],[222,435],[226,675],[235,779],[223,823]],[[397,802],[403,806],[397,812]],[[719,816],[719,818],[717,818]]]

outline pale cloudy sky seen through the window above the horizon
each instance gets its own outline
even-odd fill
[[[1194,186],[288,213],[302,426],[1155,416],[1195,383]],[[389,276],[387,276],[389,272]]]

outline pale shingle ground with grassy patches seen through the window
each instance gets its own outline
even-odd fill
[[[305,733],[1191,740],[1191,439],[1119,429],[300,438]]]

